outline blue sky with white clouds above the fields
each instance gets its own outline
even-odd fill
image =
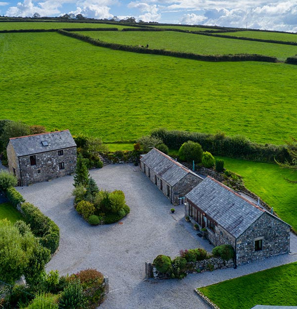
[[[0,0],[1,16],[34,13],[297,32],[297,0]]]

